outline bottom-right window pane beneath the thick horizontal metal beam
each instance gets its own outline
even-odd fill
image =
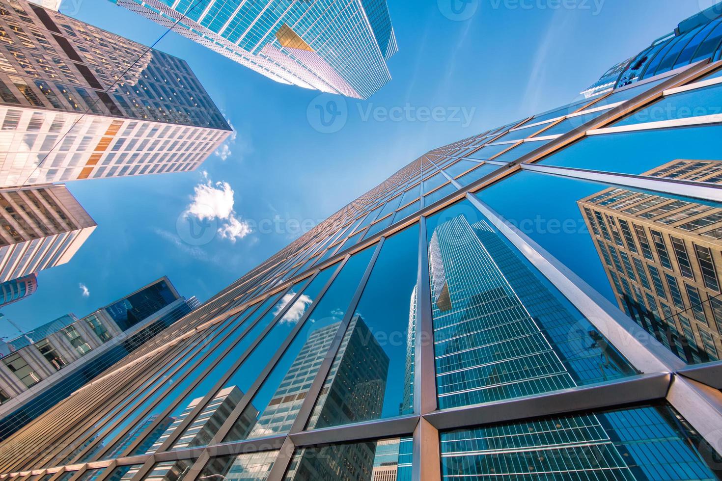
[[[665,404],[441,433],[449,481],[711,481],[713,453]]]

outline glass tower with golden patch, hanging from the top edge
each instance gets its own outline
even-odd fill
[[[282,84],[365,99],[398,50],[386,0],[111,0]]]

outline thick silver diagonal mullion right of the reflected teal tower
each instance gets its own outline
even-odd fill
[[[539,272],[559,289],[583,316],[625,356],[632,366],[644,373],[674,372],[684,362],[674,356],[640,325],[632,321],[609,300],[601,296],[572,270],[511,225],[475,195],[466,198],[499,229],[503,236],[526,257]],[[647,344],[643,343],[647,340]]]

